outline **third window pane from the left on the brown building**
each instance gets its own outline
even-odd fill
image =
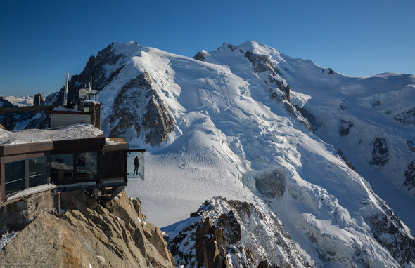
[[[52,182],[70,182],[73,180],[73,154],[51,155]]]

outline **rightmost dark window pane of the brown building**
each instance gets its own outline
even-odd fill
[[[77,154],[77,180],[96,180],[98,177],[96,152]]]

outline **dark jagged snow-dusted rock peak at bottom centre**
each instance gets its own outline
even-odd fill
[[[184,267],[312,267],[309,255],[284,231],[274,213],[252,203],[215,197],[191,218],[165,227],[177,265]]]

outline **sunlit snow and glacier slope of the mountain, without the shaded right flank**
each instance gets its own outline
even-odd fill
[[[146,107],[141,104],[148,99],[114,107],[121,92],[141,94],[139,84],[129,83],[142,79],[141,74],[148,80],[146,91],[157,97],[159,107],[166,107],[158,111],[174,119],[174,128],[159,146],[148,145],[143,132],[127,137],[130,145],[148,151],[146,181],[130,181],[127,192],[140,197],[152,222],[170,225],[189,217],[205,199],[224,196],[271,209],[317,267],[414,266],[409,228],[346,165],[337,148],[312,133],[307,116],[293,107],[307,107],[314,98],[318,107],[319,100],[324,105],[352,90],[363,98],[359,86],[343,88],[346,93],[338,90],[360,78],[255,42],[224,44],[217,51],[204,51],[203,60],[136,43],[114,43],[112,51],[120,57],[106,65],[108,77],[114,70],[117,75],[98,94],[103,121],[128,107],[140,119],[134,128],[145,129]],[[324,76],[315,79],[319,73]],[[112,122],[104,126],[107,135],[120,125],[113,119],[107,122]]]

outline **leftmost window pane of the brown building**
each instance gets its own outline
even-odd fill
[[[20,160],[4,164],[4,194],[8,196],[26,187],[26,161]]]

